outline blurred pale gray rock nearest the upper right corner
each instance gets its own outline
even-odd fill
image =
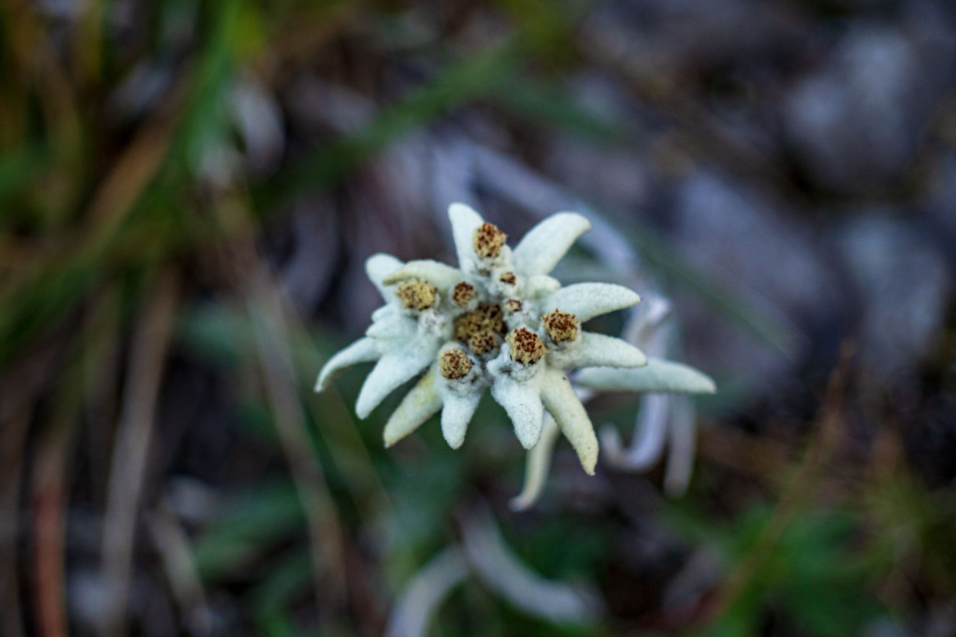
[[[858,27],[783,100],[784,135],[818,186],[866,194],[901,178],[933,105],[915,43]]]

